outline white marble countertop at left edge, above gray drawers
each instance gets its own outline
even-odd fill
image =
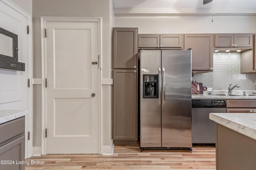
[[[0,110],[0,124],[28,115],[28,110]]]

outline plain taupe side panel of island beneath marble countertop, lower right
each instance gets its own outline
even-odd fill
[[[216,170],[255,170],[256,140],[217,124]]]

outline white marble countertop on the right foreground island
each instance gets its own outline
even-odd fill
[[[210,119],[256,140],[256,113],[210,113]]]

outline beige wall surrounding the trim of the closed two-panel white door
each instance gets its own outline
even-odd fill
[[[102,18],[102,147],[111,145],[111,26],[110,0],[33,0],[33,49],[34,78],[41,78],[41,16],[63,17],[101,17]],[[38,87],[39,86],[39,87]],[[34,147],[41,147],[41,96],[38,90],[41,85],[34,85],[34,94],[39,94],[34,100]],[[106,149],[106,152],[108,150]]]

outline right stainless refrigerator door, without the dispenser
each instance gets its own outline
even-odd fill
[[[162,70],[162,147],[192,147],[191,50],[162,50]]]

